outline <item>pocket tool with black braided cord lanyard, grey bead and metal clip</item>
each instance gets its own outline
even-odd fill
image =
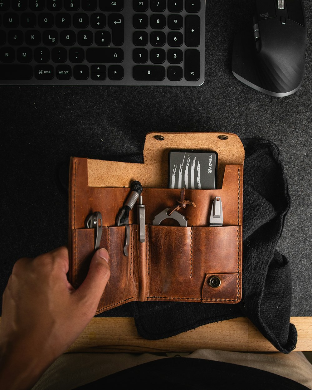
[[[139,195],[143,191],[142,185],[139,181],[135,180],[131,183],[131,192],[126,200],[126,203],[121,209],[121,212],[117,216],[117,226],[125,226],[126,234],[124,238],[124,255],[128,256],[128,247],[130,243],[130,227],[129,227],[129,211],[132,210],[135,202],[137,202]],[[145,227],[144,227],[145,229]]]

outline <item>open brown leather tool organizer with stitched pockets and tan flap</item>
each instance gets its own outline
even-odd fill
[[[158,140],[156,135],[164,139]],[[185,198],[196,205],[179,210],[188,227],[152,225],[154,216],[174,206],[180,197],[181,190],[167,188],[168,152],[173,149],[218,153],[217,189],[185,190]],[[97,314],[129,301],[238,303],[242,285],[243,162],[244,149],[238,136],[218,132],[148,133],[142,164],[71,158],[71,284],[77,288],[87,275],[95,229],[85,229],[84,223],[90,213],[99,211],[103,227],[100,247],[108,250],[111,276]],[[143,187],[145,242],[139,241],[135,205],[129,215],[129,255],[125,256],[126,228],[115,226],[115,222],[133,180]],[[215,197],[222,199],[222,227],[209,227]],[[209,284],[212,276],[220,278],[219,287]]]

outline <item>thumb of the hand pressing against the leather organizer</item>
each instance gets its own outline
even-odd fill
[[[108,252],[106,249],[101,248],[93,255],[88,275],[82,285],[76,290],[76,293],[82,297],[89,296],[97,305],[109,277],[110,268],[108,266]]]

